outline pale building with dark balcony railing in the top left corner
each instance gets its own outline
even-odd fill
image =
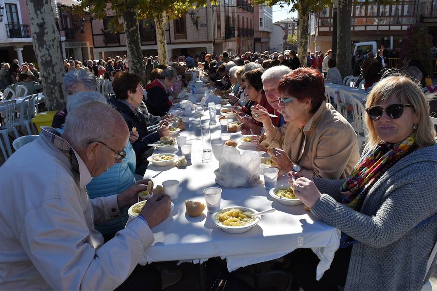
[[[17,59],[36,62],[32,45],[29,10],[26,0],[0,0],[3,19],[0,23],[0,61],[12,63]]]

